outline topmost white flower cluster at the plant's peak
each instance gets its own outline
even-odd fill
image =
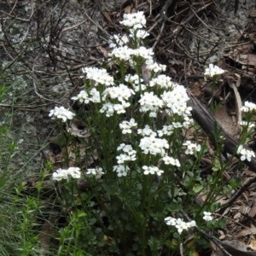
[[[125,14],[124,20],[120,21],[120,24],[131,27],[133,29],[143,28],[143,26],[146,26],[146,18],[143,12]]]

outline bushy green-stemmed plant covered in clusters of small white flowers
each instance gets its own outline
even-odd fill
[[[53,179],[81,177],[88,183],[90,189],[75,198],[72,208],[79,206],[94,219],[92,224],[84,219],[84,225],[97,227],[86,244],[89,253],[161,255],[176,251],[188,230],[207,230],[206,222],[218,207],[216,188],[224,183],[225,166],[207,178],[201,176],[206,147],[203,141],[187,138],[194,122],[185,87],[160,74],[166,66],[154,61],[153,49],[143,44],[148,32],[142,12],[124,15],[120,23],[127,35],[113,35],[108,68],[82,69],[84,89],[72,100],[83,114],[61,109],[63,114],[58,108],[49,114],[64,122],[79,119],[91,135],[90,143],[81,143],[97,166],[59,170]],[[223,73],[209,68],[206,75]],[[222,159],[219,152],[212,157]],[[196,203],[203,193],[207,199]],[[183,220],[186,216],[192,220]],[[76,234],[83,241],[76,246],[83,247],[84,236],[78,230]]]

